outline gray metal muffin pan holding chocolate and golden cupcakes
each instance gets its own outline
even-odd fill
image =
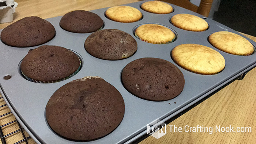
[[[184,8],[172,5],[174,12],[170,14],[152,14],[140,8],[140,4],[146,1],[137,3],[125,4],[137,8],[143,14],[143,19],[133,23],[119,23],[109,20],[105,17],[104,12],[108,8],[93,10],[105,22],[103,29],[119,29],[132,35],[137,43],[137,52],[124,60],[109,61],[95,58],[86,52],[84,49],[84,41],[91,34],[76,34],[65,31],[59,26],[61,16],[46,19],[56,29],[56,36],[44,45],[57,45],[74,50],[82,57],[83,67],[75,76],[57,83],[40,84],[33,83],[19,74],[18,65],[26,56],[29,49],[37,48],[15,48],[7,46],[0,42],[0,84],[1,94],[10,107],[12,113],[17,120],[22,124],[25,130],[37,143],[131,143],[146,134],[146,124],[153,122],[156,119],[167,121],[177,114],[181,114],[183,110],[192,106],[196,102],[212,94],[225,84],[229,84],[238,76],[249,71],[256,66],[256,54],[250,56],[236,56],[222,52],[214,48],[208,41],[208,35],[217,31],[231,31],[238,35],[236,31],[218,23],[214,20],[204,18],[202,15],[186,10]],[[173,26],[169,19],[176,14],[187,13],[204,18],[209,29],[202,32],[192,32],[179,29]],[[134,27],[140,24],[157,23],[167,26],[174,30],[177,34],[176,41],[168,44],[157,45],[140,41],[133,35]],[[0,30],[1,31],[1,30]],[[244,37],[243,35],[241,35]],[[246,37],[245,37],[246,38]],[[254,46],[256,43],[248,39]],[[171,50],[183,43],[196,43],[208,46],[217,50],[226,60],[225,69],[216,75],[200,75],[189,72],[177,64],[170,57]],[[184,90],[176,98],[169,101],[153,102],[140,99],[130,94],[122,85],[121,71],[129,62],[143,57],[156,57],[172,62],[176,65],[185,77]],[[10,75],[11,79],[4,80],[3,77]],[[82,78],[84,76],[100,76],[107,82],[112,84],[122,94],[125,102],[125,114],[121,124],[110,134],[101,139],[89,142],[75,142],[64,139],[54,133],[48,126],[45,119],[45,106],[50,96],[64,84],[72,80]]]

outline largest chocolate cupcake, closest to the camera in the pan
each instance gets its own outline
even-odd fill
[[[88,141],[106,136],[124,117],[120,92],[98,76],[73,80],[49,99],[45,116],[54,132],[71,140]]]

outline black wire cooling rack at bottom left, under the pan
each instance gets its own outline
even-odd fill
[[[33,144],[33,139],[22,128],[0,94],[1,144]]]

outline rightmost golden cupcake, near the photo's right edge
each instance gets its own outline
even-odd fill
[[[209,42],[223,52],[236,55],[250,55],[254,48],[251,42],[238,34],[229,31],[219,31],[209,36]]]

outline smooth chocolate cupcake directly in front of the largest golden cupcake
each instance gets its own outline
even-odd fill
[[[122,71],[124,87],[131,94],[150,101],[166,101],[178,96],[184,88],[182,72],[171,62],[160,58],[140,58]]]

